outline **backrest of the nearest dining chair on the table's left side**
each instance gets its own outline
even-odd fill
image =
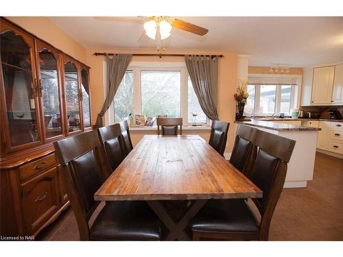
[[[54,147],[80,236],[88,238],[88,220],[99,204],[94,193],[107,173],[104,149],[96,130],[54,142]]]

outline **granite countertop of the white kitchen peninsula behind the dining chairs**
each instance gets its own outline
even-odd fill
[[[285,123],[278,123],[278,122],[270,122],[268,121],[235,121],[238,124],[250,125],[252,127],[262,127],[268,130],[278,130],[278,131],[318,131],[321,130],[319,127],[305,127],[305,126],[298,126],[298,125],[291,125]]]

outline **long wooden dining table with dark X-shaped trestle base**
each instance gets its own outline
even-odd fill
[[[209,199],[261,198],[262,191],[202,137],[145,135],[95,193],[97,201],[146,201],[169,230],[165,240],[189,240],[185,228]],[[165,207],[188,202],[176,219]]]

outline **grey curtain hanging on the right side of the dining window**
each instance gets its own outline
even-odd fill
[[[185,56],[185,62],[194,91],[204,114],[219,120],[217,112],[218,57]]]

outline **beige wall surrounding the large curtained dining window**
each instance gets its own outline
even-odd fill
[[[156,53],[154,49],[87,49],[86,63],[91,66],[91,101],[92,101],[92,121],[95,123],[97,113],[101,110],[104,103],[104,77],[103,77],[103,61],[104,56],[94,56],[95,52],[108,53]],[[181,54],[223,54],[218,67],[218,114],[221,120],[230,122],[230,130],[228,135],[228,144],[226,144],[226,152],[232,151],[233,140],[235,140],[234,124],[235,121],[235,100],[233,94],[237,86],[237,53],[224,51],[165,51],[165,53],[181,53]],[[183,57],[147,57],[134,56],[132,61],[141,62],[184,62]],[[201,134],[205,139],[209,139],[209,132],[199,131],[183,131],[183,134]],[[151,132],[132,132],[132,143],[137,143],[143,134]]]

